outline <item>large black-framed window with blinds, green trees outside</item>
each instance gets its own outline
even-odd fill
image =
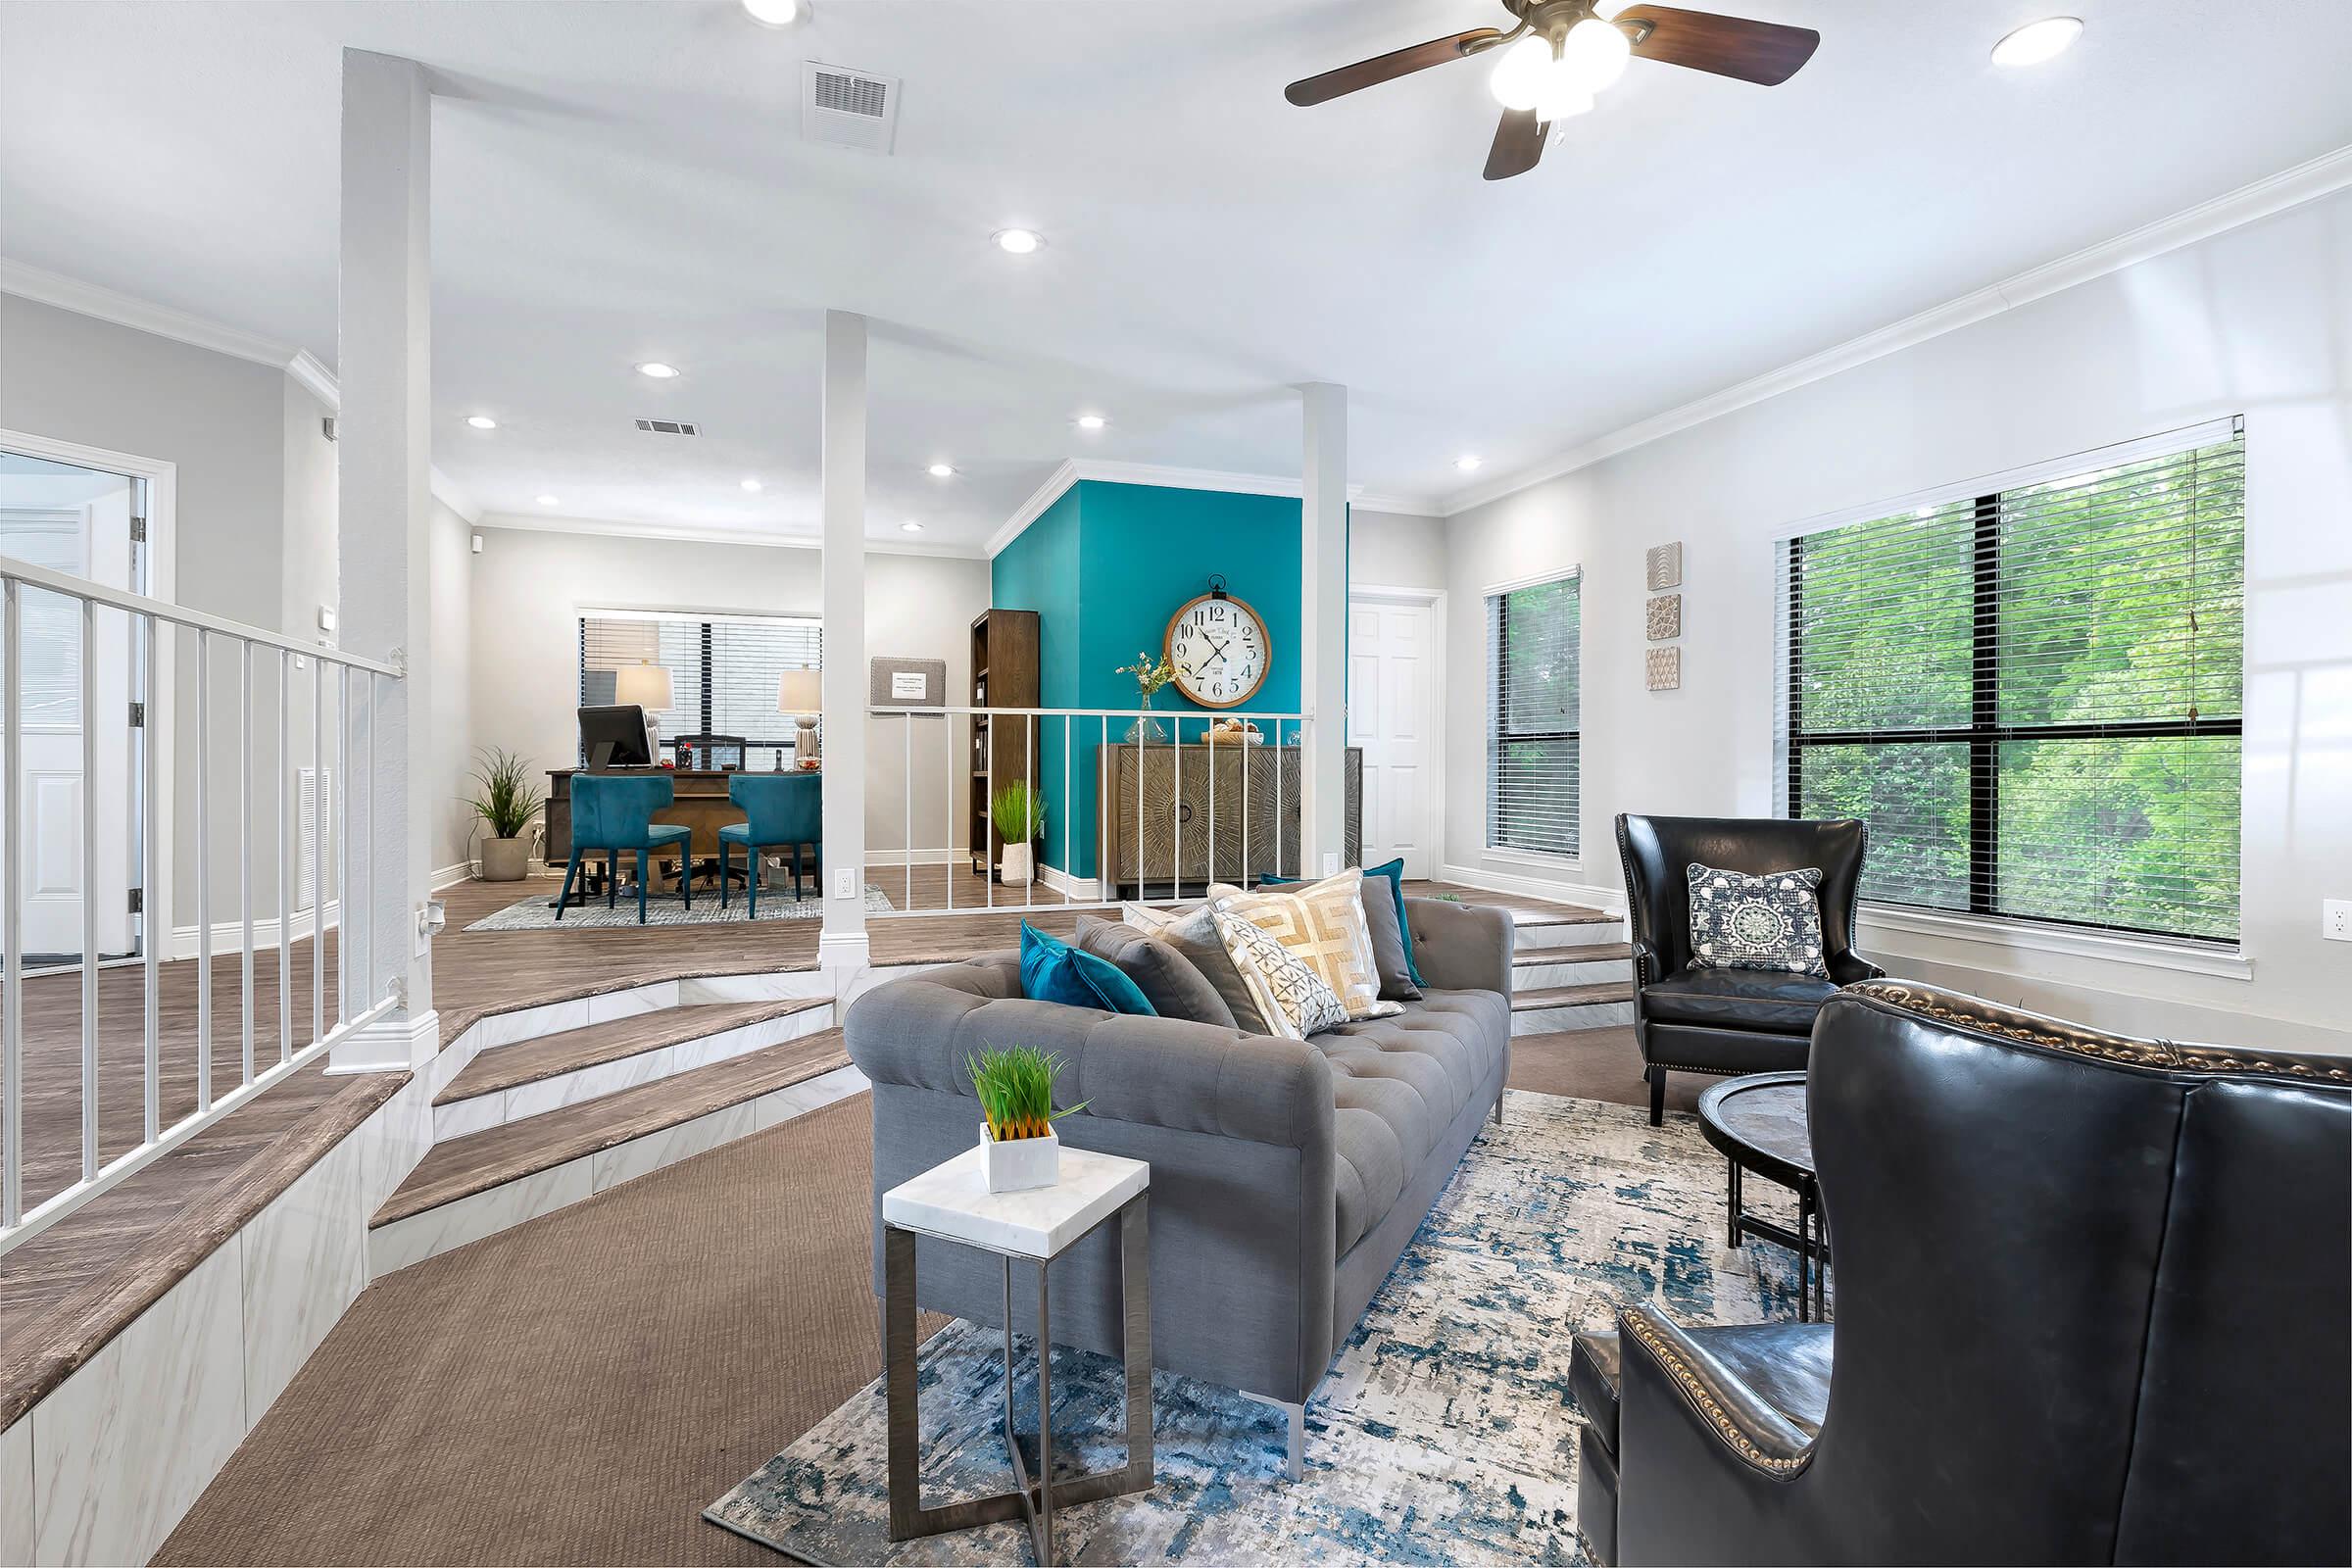
[[[1886,903],[2237,938],[2244,437],[1780,550],[1792,816]]]

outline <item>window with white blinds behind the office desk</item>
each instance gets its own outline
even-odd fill
[[[652,715],[663,741],[741,736],[788,755],[793,719],[776,712],[776,684],[786,670],[821,661],[823,623],[802,616],[581,616],[581,705],[612,703],[619,670],[656,663],[670,672],[670,708]]]

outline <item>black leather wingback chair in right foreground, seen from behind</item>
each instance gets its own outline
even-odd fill
[[[2352,1556],[2352,1060],[1875,980],[1809,1091],[1837,1321],[1578,1335],[1595,1556]]]

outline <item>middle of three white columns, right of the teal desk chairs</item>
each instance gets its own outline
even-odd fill
[[[826,969],[866,966],[866,317],[826,310]]]

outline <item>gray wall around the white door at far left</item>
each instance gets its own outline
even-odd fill
[[[332,454],[303,451],[296,463],[289,430],[322,409],[285,371],[172,339],[56,310],[0,294],[0,430],[26,430],[52,440],[106,447],[179,465],[179,512],[172,555],[172,597],[179,604],[282,630],[287,623],[289,473],[303,475],[313,494],[318,463],[327,465],[329,505],[322,517],[303,517],[301,531],[322,531],[332,562]],[[315,423],[313,423],[315,430]],[[325,444],[325,442],[320,442]],[[306,545],[303,576],[315,574],[315,550]],[[332,581],[332,567],[329,567]],[[256,661],[256,712],[275,686],[275,661]],[[216,646],[212,703],[235,722],[235,661]],[[275,708],[266,712],[275,715]],[[195,649],[179,639],[174,698],[172,792],[176,802],[172,844],[172,922],[195,922]],[[275,719],[273,719],[275,722]],[[226,743],[221,738],[228,738]],[[275,766],[275,731],[261,726],[259,780]],[[216,729],[209,769],[212,799],[238,799],[238,752],[230,729]],[[214,811],[212,919],[238,914],[235,813]],[[275,842],[263,835],[254,860],[256,912],[275,907]]]

